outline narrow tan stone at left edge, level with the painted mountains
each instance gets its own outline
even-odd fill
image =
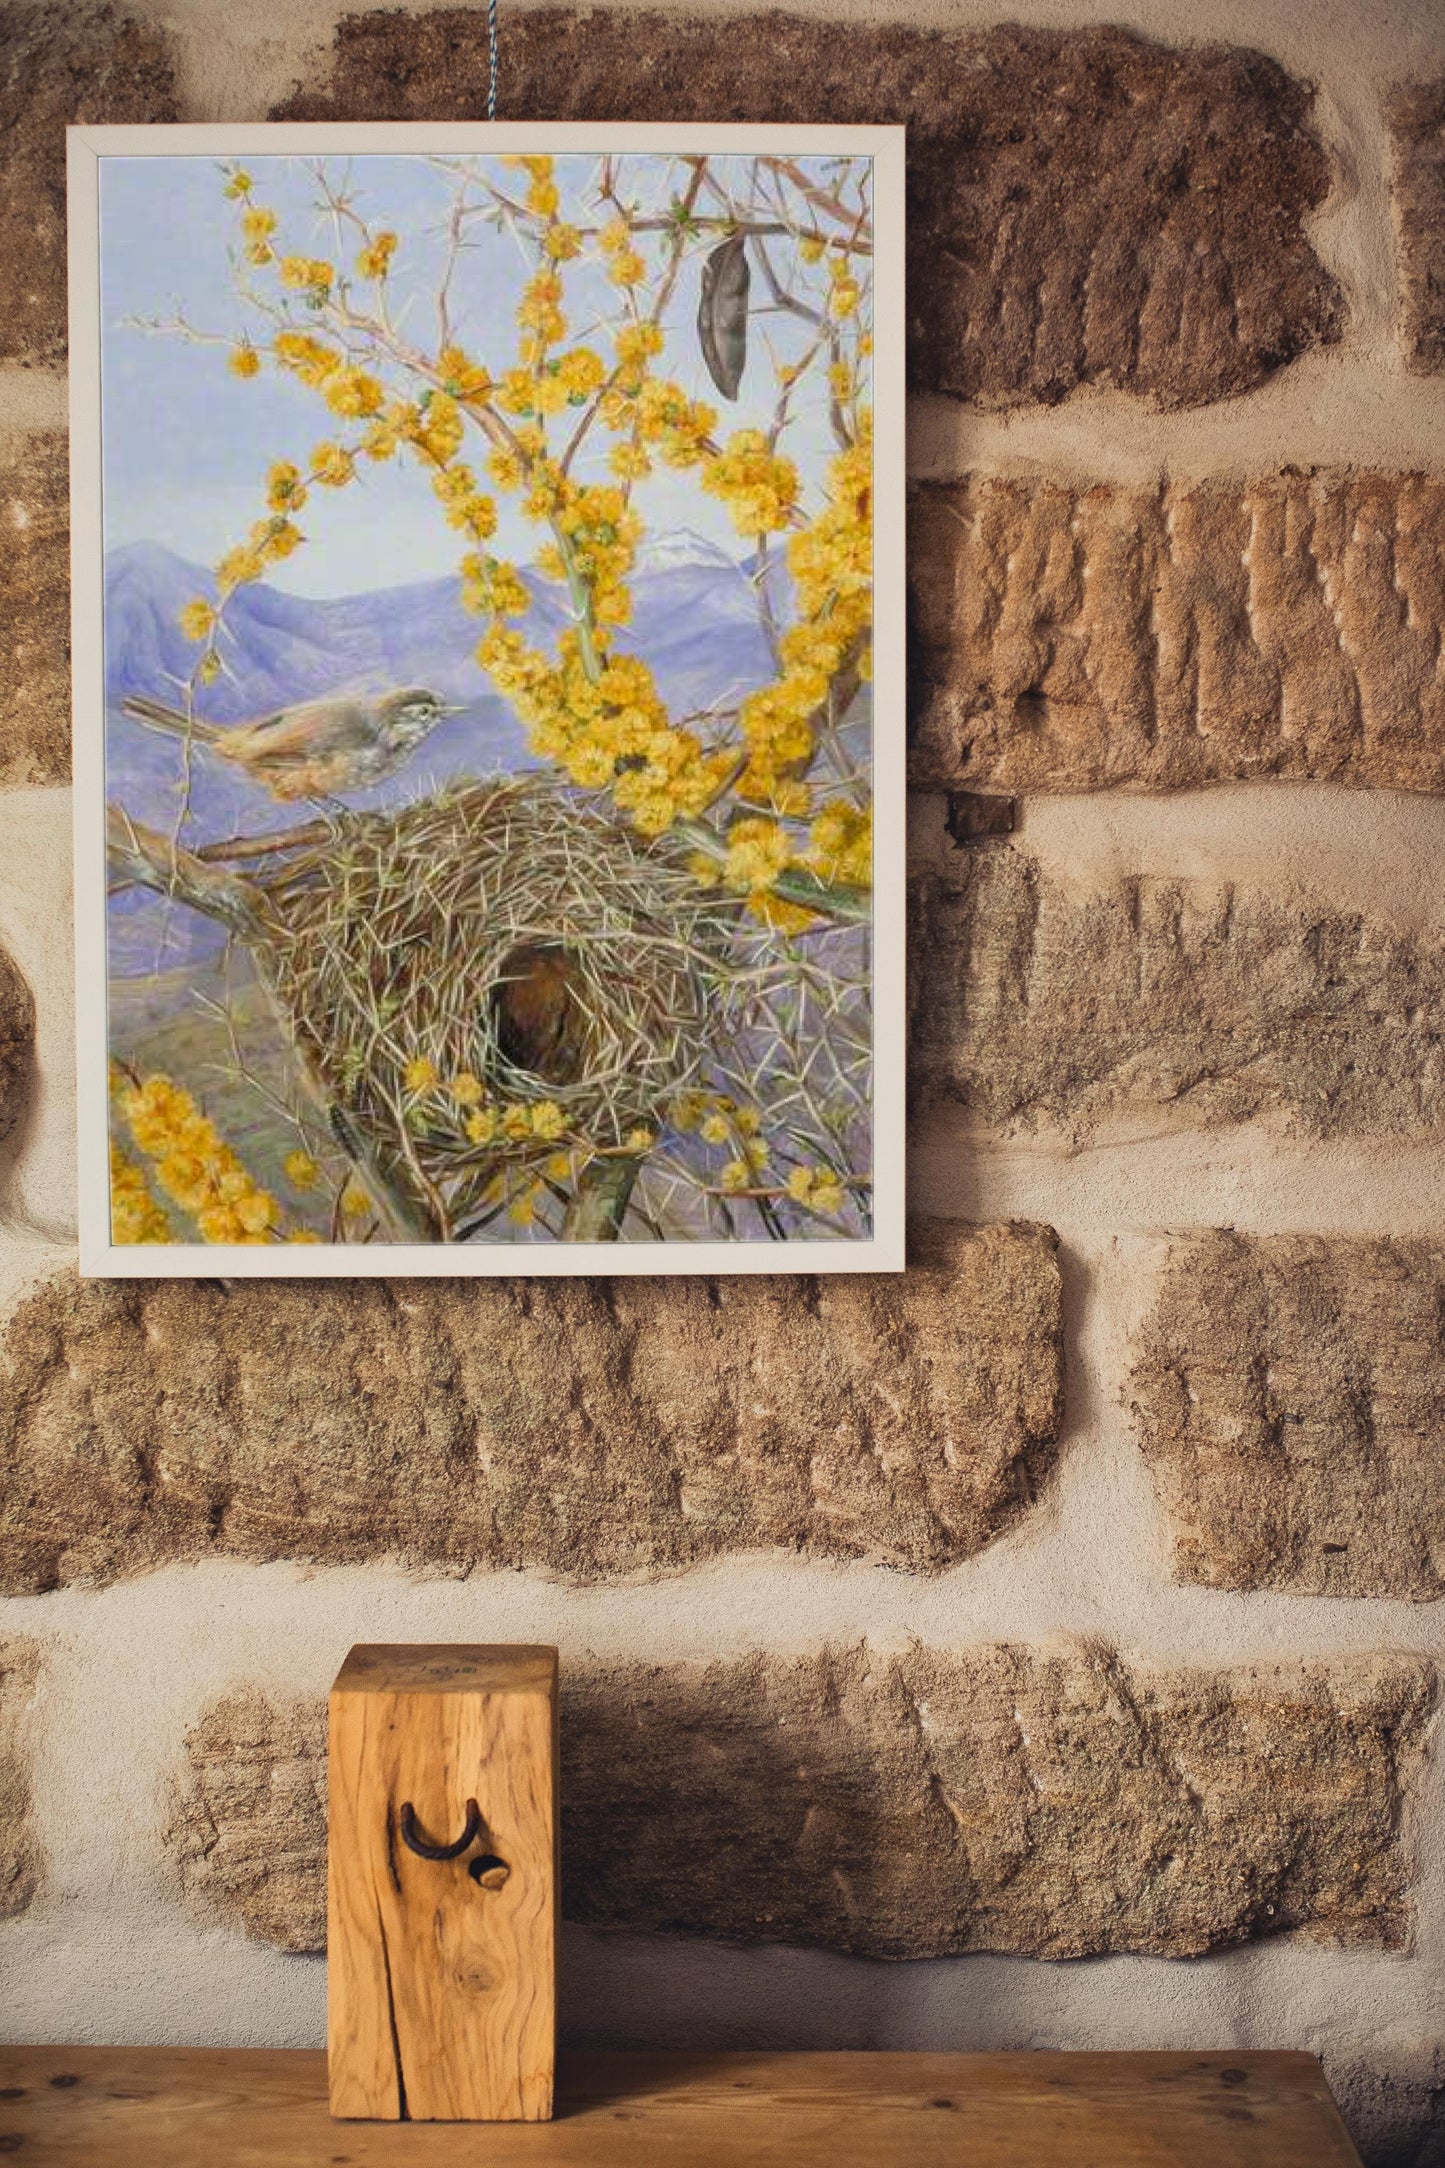
[[[69,505],[61,429],[0,436],[0,787],[67,783]]]

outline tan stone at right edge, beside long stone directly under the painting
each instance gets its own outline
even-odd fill
[[[1179,1578],[1441,1596],[1443,1316],[1432,1242],[1181,1242],[1133,1370]]]

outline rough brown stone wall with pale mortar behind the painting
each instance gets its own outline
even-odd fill
[[[1304,2047],[1426,2168],[1445,20],[726,13],[500,111],[910,121],[903,1279],[76,1281],[61,130],[485,17],[0,13],[0,2034],[318,2040],[331,1674],[546,1639],[570,2040]]]

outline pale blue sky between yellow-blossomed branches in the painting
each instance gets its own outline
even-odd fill
[[[245,165],[256,182],[256,202],[279,217],[275,241],[284,251],[338,260],[329,219],[314,208],[314,180],[303,160],[247,158]],[[726,165],[719,160],[719,171]],[[524,176],[498,160],[483,160],[483,169],[511,195],[526,186]],[[589,206],[596,169],[596,158],[581,154],[557,160],[563,215],[596,223]],[[349,173],[357,210],[401,234],[392,306],[418,345],[435,347],[435,275],[451,178],[405,154],[327,158],[327,173],[334,184]],[[624,189],[665,208],[678,186],[676,173],[665,158],[628,158]],[[243,382],[230,373],[223,347],[193,345],[126,321],[182,314],[199,332],[234,338],[249,330],[258,343],[266,338],[266,319],[234,291],[227,247],[236,245],[238,217],[236,204],[223,195],[217,160],[102,158],[100,217],[106,544],[165,542],[184,557],[214,564],[260,516],[269,462],[290,457],[303,466],[310,447],[336,436],[340,425],[314,390],[290,377],[266,371]],[[453,288],[455,336],[500,375],[516,360],[513,308],[531,264],[509,232],[477,232]],[[353,251],[355,241],[349,241],[344,258]],[[806,325],[778,312],[754,314],[741,397],[734,405],[721,401],[708,384],[693,330],[702,254],[691,256],[678,280],[667,312],[669,345],[656,366],[689,395],[719,408],[719,434],[765,427],[776,397],[765,340],[786,360],[802,349]],[[275,291],[271,273],[249,275],[258,288]],[[572,336],[587,334],[596,312],[611,301],[615,293],[594,267],[568,267]],[[754,308],[767,304],[756,271],[752,301]],[[817,494],[832,449],[819,390],[795,412],[784,449]],[[479,466],[481,453],[477,440],[468,455]],[[702,496],[695,477],[663,470],[639,488],[637,505],[654,531],[691,527],[737,555],[747,546],[726,512]],[[537,529],[509,512],[505,501],[500,509],[494,546],[526,562],[537,546]],[[314,492],[299,525],[305,546],[271,572],[277,588],[295,594],[353,594],[425,579],[455,570],[464,549],[442,522],[414,464],[364,464],[360,486]]]

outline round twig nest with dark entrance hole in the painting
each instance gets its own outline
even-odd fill
[[[639,1147],[747,1008],[737,900],[542,776],[340,813],[260,885],[338,1143],[431,1227],[481,1223],[498,1162]]]

